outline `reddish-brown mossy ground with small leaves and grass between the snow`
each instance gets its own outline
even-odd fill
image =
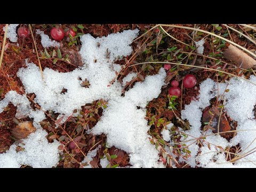
[[[4,39],[4,26],[0,25],[1,47]],[[178,26],[175,27],[155,24],[62,24],[62,29],[66,29],[66,31],[72,29],[76,32],[76,36],[65,36],[60,42],[60,48],[49,47],[45,49],[41,43],[41,36],[36,34],[36,29],[44,31],[44,34],[51,37],[50,31],[55,26],[57,25],[31,25],[42,69],[47,67],[62,73],[73,71],[83,65],[78,53],[81,49],[80,36],[91,34],[93,37],[103,37],[117,32],[121,33],[127,29],[139,29],[140,31],[138,38],[132,43],[132,54],[116,61],[116,63],[124,66],[119,73],[116,73],[117,81],[122,82],[123,78],[130,73],[137,74],[129,79],[129,82],[123,87],[123,93],[132,89],[135,83],[145,81],[148,75],[157,74],[164,65],[170,64],[170,69],[166,70],[166,84],[162,87],[161,94],[158,98],[151,100],[146,107],[146,119],[150,126],[148,131],[151,136],[150,142],[156,146],[159,151],[159,161],[163,162],[165,167],[190,167],[187,162],[191,157],[191,151],[188,145],[183,142],[189,136],[186,131],[190,130],[190,124],[187,119],[181,118],[181,111],[185,109],[185,105],[189,105],[198,97],[199,85],[207,78],[213,79],[214,82],[226,83],[234,76],[248,79],[250,75],[255,75],[254,64],[250,68],[243,69],[241,67],[243,67],[244,61],[239,62],[239,59],[230,59],[224,55],[230,43],[217,36],[193,30],[201,29],[216,34],[255,54],[256,30],[254,25],[189,24],[175,25]],[[201,39],[204,39],[204,50],[203,53],[198,53],[199,47],[195,43]],[[17,43],[12,43],[7,39],[4,47],[3,63],[0,68],[0,100],[4,99],[6,93],[11,90],[25,94],[23,84],[17,77],[17,72],[21,67],[26,66],[26,59],[28,62],[39,65],[33,38],[31,36],[28,38],[18,37]],[[250,56],[255,60],[253,55]],[[191,89],[186,89],[182,83],[182,79],[188,74],[194,75],[197,80],[196,85]],[[173,80],[179,82],[182,91],[181,97],[176,98],[169,95]],[[81,86],[90,86],[90,82],[85,79]],[[63,94],[66,91],[63,89]],[[228,92],[229,90],[225,89],[225,91]],[[221,94],[212,98],[210,100],[211,105],[203,109],[202,135],[196,138],[198,146],[203,146],[206,143],[211,148],[211,143],[205,141],[207,130],[220,134],[228,141],[237,134],[237,122],[226,113],[222,101],[218,100]],[[31,102],[31,108],[41,108],[38,103],[34,102],[35,94],[27,94],[27,98]],[[91,167],[102,167],[100,163],[102,158],[108,159],[105,167],[131,166],[129,154],[115,146],[108,147],[105,134],[93,135],[87,132],[100,120],[103,109],[107,108],[107,105],[108,102],[105,100],[86,104],[79,112],[80,116],[70,116],[65,123],[60,124],[57,128],[55,128],[56,124],[61,121],[57,118],[60,114],[54,113],[52,110],[45,111],[47,118],[40,124],[48,133],[47,140],[51,143],[56,139],[62,143],[59,146],[59,150],[62,152],[57,167],[78,168],[86,167],[89,163]],[[15,117],[16,112],[17,107],[10,103],[0,114],[0,153],[9,150],[14,142],[27,138],[35,129],[31,123],[23,123],[33,122],[33,119],[29,117],[18,119]],[[217,122],[217,124],[211,122]],[[171,142],[163,138],[164,134],[162,134],[170,123],[173,123],[170,129]],[[97,154],[92,157],[91,161],[84,161],[89,151],[97,147]],[[241,151],[239,143],[225,149],[221,149],[218,145],[215,147],[220,149],[220,153],[225,154],[228,162],[235,163],[242,158],[238,155]],[[254,153],[254,150],[250,151],[250,153],[252,152]],[[23,165],[22,167],[30,166]],[[193,167],[202,166],[195,165]]]

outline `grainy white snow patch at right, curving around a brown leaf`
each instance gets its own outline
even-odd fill
[[[256,83],[256,77],[251,75],[249,81]],[[190,145],[189,150],[191,150],[191,157],[188,160],[190,166],[195,167],[198,164],[202,167],[256,167],[255,162],[253,162],[256,160],[256,154],[251,153],[256,147],[256,120],[254,119],[256,86],[250,82],[233,77],[229,83],[217,84],[209,78],[201,83],[197,100],[191,101],[181,111],[181,118],[188,119],[191,128],[185,131],[190,135],[187,140],[192,139],[186,142],[187,145]],[[229,91],[225,92],[225,89],[229,89]],[[226,111],[234,121],[237,121],[237,134],[228,142],[220,135],[211,135],[212,131],[209,130],[203,147],[199,148],[195,141],[196,138],[202,135],[200,129],[202,110],[210,106],[210,99],[222,94],[223,96],[219,99],[224,101],[223,111]],[[217,146],[226,149],[227,147],[236,146],[238,143],[241,147],[238,155],[246,156],[234,164],[227,162],[225,153],[221,152],[221,149]],[[210,149],[208,145],[210,145]],[[251,154],[247,155],[249,153]]]

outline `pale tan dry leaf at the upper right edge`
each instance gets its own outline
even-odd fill
[[[229,44],[228,49],[223,52],[223,57],[235,61],[238,67],[244,69],[252,68],[256,65],[256,60],[231,44]]]

